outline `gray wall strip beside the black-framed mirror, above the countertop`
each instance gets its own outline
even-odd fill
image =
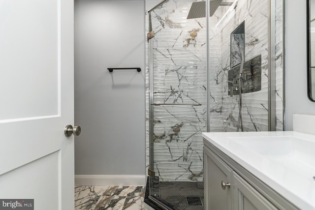
[[[307,97],[306,0],[285,0],[285,130],[293,114],[315,115]]]

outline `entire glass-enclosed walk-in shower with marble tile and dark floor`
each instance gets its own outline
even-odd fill
[[[201,133],[268,130],[268,0],[151,3],[149,199],[188,210],[196,201],[202,210]]]

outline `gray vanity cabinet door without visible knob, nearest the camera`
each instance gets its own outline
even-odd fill
[[[277,210],[265,197],[237,173],[233,173],[234,210]]]

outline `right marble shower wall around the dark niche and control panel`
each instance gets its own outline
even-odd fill
[[[228,7],[210,18],[210,130],[236,131],[239,95],[228,96],[230,34],[245,21],[245,61],[261,55],[261,90],[242,94],[244,131],[268,130],[268,0],[239,0],[235,10],[214,27]],[[277,130],[283,130],[282,2],[276,10]]]

